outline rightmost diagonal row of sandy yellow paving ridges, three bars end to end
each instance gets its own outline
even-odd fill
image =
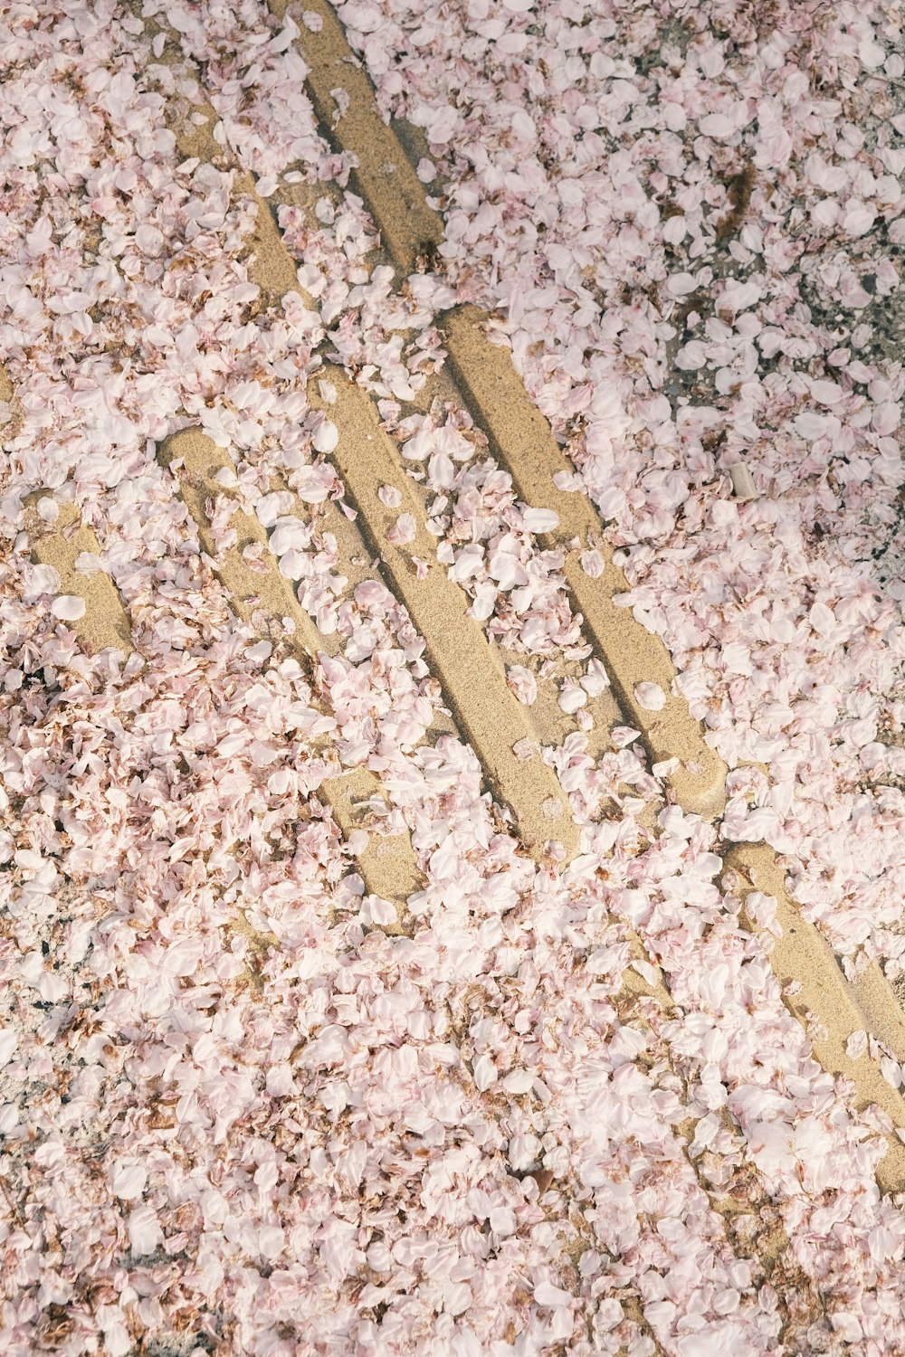
[[[269,0],[269,5],[282,19],[289,0]],[[307,88],[315,113],[334,147],[350,151],[357,157],[357,187],[380,228],[387,254],[404,278],[418,266],[423,242],[442,240],[442,221],[426,202],[421,185],[418,206],[411,212],[407,197],[403,198],[395,190],[393,185],[404,179],[407,193],[414,193],[417,176],[411,167],[406,171],[404,151],[384,122],[370,81],[360,58],[349,47],[334,11],[326,0],[307,0],[305,9],[322,20],[319,31],[303,24],[294,39],[309,68]],[[334,90],[343,90],[347,99],[338,102]],[[380,172],[380,166],[379,172],[369,171],[374,149],[384,164],[393,164],[393,175]],[[400,210],[403,202],[406,208]],[[430,228],[429,218],[434,223]],[[612,562],[612,551],[604,544],[604,525],[590,502],[581,494],[569,494],[555,486],[554,475],[563,471],[569,474],[571,467],[552,437],[550,425],[528,399],[512,366],[512,357],[503,346],[493,345],[482,332],[483,318],[476,308],[446,313],[441,328],[463,403],[487,430],[493,451],[513,476],[518,494],[529,505],[552,508],[559,514],[560,529],[547,541],[562,546],[577,539],[579,547],[592,544],[601,550],[606,569],[597,584],[582,570],[579,552],[569,552],[566,578],[573,596],[600,645],[620,704],[642,731],[651,757],[655,761],[678,757],[678,768],[668,778],[676,801],[687,811],[716,818],[725,805],[725,765],[706,744],[701,727],[692,719],[684,700],[676,696],[676,669],[663,643],[636,623],[628,609],[613,604],[613,594],[627,590],[628,584]],[[668,702],[661,712],[650,712],[638,703],[635,687],[639,681],[653,681],[663,689]],[[745,866],[758,881],[768,882],[757,889],[768,890],[777,898],[783,939],[771,959],[776,974],[780,978],[787,976],[783,984],[796,978],[803,987],[802,992],[807,992],[815,1006],[811,1011],[830,1031],[841,1030],[840,1022],[843,1026],[851,1022],[855,1026],[849,1030],[860,1026],[877,1030],[881,1039],[898,1033],[901,1008],[885,977],[874,969],[870,992],[864,981],[860,989],[849,985],[817,930],[813,925],[805,927],[801,912],[786,893],[784,874],[773,849],[757,844],[745,845],[744,854],[741,848],[733,849],[733,854],[726,856],[727,866],[731,862]],[[742,875],[739,879],[746,878]],[[868,1003],[863,1004],[862,1000]],[[801,1012],[798,1016],[801,1018]],[[896,1128],[905,1126],[905,1099],[886,1083],[875,1061],[868,1057],[851,1061],[836,1037],[815,1044],[814,1050],[825,1069],[853,1080],[859,1106],[877,1103],[887,1110]],[[889,1137],[889,1144],[890,1151],[878,1177],[886,1189],[901,1190],[905,1187],[902,1144],[894,1133]]]

